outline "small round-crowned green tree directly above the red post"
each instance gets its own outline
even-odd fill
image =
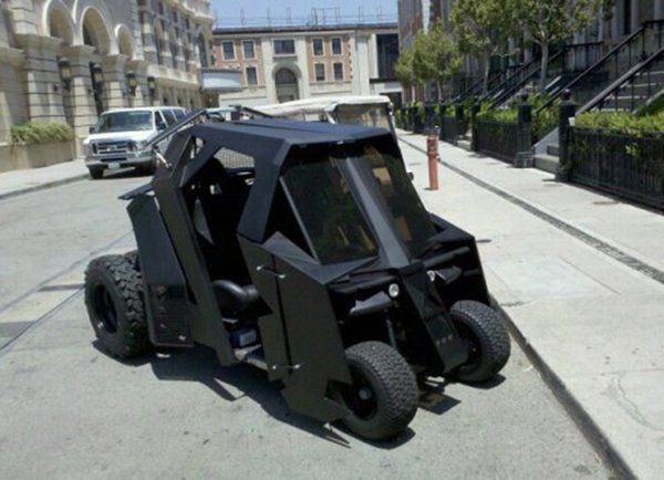
[[[435,82],[438,98],[460,66],[458,46],[440,21],[428,32],[417,34],[413,49],[413,71],[421,82]]]

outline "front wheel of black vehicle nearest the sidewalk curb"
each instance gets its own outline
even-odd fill
[[[459,336],[468,346],[468,359],[453,376],[478,383],[492,378],[509,358],[507,327],[494,309],[473,300],[456,302],[449,312]]]

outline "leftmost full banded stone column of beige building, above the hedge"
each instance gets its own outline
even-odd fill
[[[58,69],[61,39],[37,34],[15,35],[25,52],[24,84],[28,116],[34,122],[64,122],[62,82]]]

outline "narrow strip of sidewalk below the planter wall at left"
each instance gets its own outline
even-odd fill
[[[64,161],[43,168],[0,173],[0,200],[42,188],[56,187],[87,177],[82,159]]]

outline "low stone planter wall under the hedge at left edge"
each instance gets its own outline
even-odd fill
[[[73,142],[34,145],[0,145],[0,173],[48,167],[75,158]]]

